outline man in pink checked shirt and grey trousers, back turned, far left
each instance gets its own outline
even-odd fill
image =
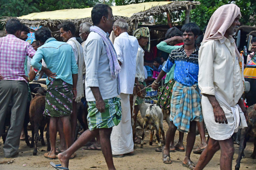
[[[5,159],[18,154],[20,134],[28,98],[28,85],[25,76],[25,57],[33,57],[34,48],[20,40],[22,24],[17,19],[6,23],[6,37],[0,38],[0,134],[3,132],[7,107],[12,100],[11,126],[4,144]]]

